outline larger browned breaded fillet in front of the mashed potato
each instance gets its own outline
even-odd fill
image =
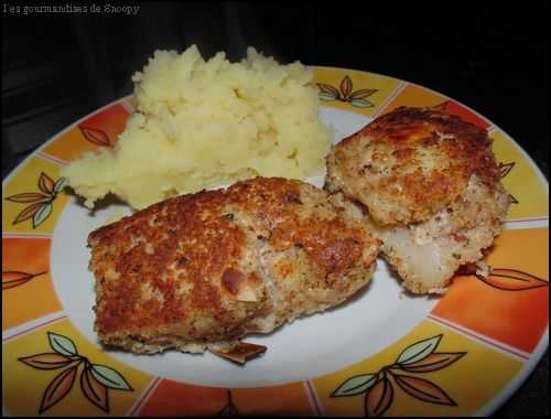
[[[231,347],[365,286],[379,243],[360,210],[278,178],[179,196],[89,235],[96,323],[134,352]]]

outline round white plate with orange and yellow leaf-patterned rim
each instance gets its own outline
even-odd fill
[[[2,184],[4,413],[484,415],[521,384],[548,346],[545,180],[505,132],[447,97],[377,74],[314,69],[335,142],[400,105],[440,106],[489,131],[517,201],[488,257],[494,275],[415,298],[381,260],[342,307],[247,339],[269,351],[245,367],[210,354],[106,352],[93,331],[85,244],[128,208],[91,216],[57,192],[58,170],[112,146],[131,111],[125,98],[47,141]],[[323,176],[310,181],[321,186]]]

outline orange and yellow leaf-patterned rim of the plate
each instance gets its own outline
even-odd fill
[[[130,115],[125,98],[64,130],[3,183],[2,378],[10,413],[475,415],[533,366],[549,324],[548,192],[533,163],[491,122],[442,94],[371,73],[313,68],[323,106],[368,118],[398,106],[436,106],[488,130],[516,201],[509,219],[521,223],[497,238],[486,259],[491,275],[458,276],[397,342],[303,382],[209,387],[131,367],[65,316],[50,267],[53,233],[69,200],[60,165],[116,144]],[[541,225],[526,228],[525,221]]]

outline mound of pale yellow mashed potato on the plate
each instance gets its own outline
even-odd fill
[[[136,210],[169,196],[262,176],[322,173],[329,131],[318,119],[313,73],[252,47],[240,63],[197,47],[156,51],[132,77],[137,111],[115,149],[65,166],[86,198],[108,193]]]

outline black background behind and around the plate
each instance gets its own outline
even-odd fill
[[[2,11],[2,178],[65,126],[132,93],[132,73],[155,49],[193,43],[205,57],[226,51],[240,60],[253,45],[280,62],[365,69],[439,90],[508,132],[549,178],[545,7],[367,3],[117,3],[140,4],[137,15]],[[548,390],[545,356],[497,413],[548,416]]]

